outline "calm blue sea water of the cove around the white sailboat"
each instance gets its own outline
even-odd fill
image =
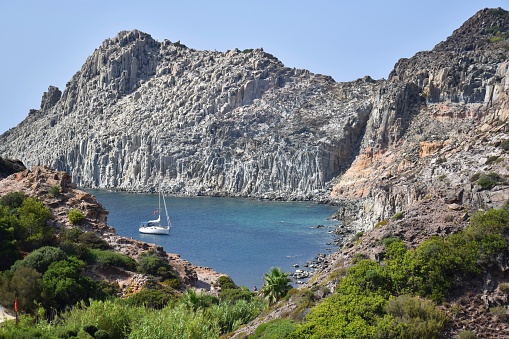
[[[319,253],[335,251],[328,220],[333,206],[313,202],[245,198],[166,197],[170,235],[141,234],[142,221],[154,219],[157,194],[87,190],[109,211],[108,225],[119,235],[154,243],[194,265],[229,275],[239,286],[263,285],[271,267],[293,273]],[[164,209],[163,209],[164,210]],[[161,216],[165,220],[164,214]],[[317,227],[321,225],[323,227]],[[332,243],[332,244],[331,244]]]

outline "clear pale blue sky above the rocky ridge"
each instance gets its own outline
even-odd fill
[[[459,0],[0,0],[0,133],[64,90],[86,58],[121,30],[198,50],[263,47],[288,67],[336,81],[387,78],[400,58],[430,50],[483,8]]]

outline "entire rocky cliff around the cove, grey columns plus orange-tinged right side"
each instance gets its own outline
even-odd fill
[[[0,155],[85,187],[335,201],[360,229],[429,197],[496,206],[507,198],[508,32],[507,12],[485,9],[387,80],[346,83],[262,49],[120,32],[0,137]],[[490,189],[472,179],[491,172]]]

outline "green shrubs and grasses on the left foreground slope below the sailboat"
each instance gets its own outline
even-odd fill
[[[0,304],[12,306],[17,297],[20,310],[20,323],[4,322],[0,338],[217,338],[267,307],[227,276],[219,298],[182,293],[173,268],[157,253],[135,261],[93,232],[53,228],[51,218],[48,207],[23,193],[0,198]],[[77,225],[85,216],[72,209],[68,218]],[[90,267],[122,268],[151,280],[121,299],[118,284],[84,274]]]

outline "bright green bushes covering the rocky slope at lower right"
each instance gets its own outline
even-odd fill
[[[462,280],[475,279],[508,252],[509,207],[479,212],[470,226],[415,249],[385,241],[385,258],[360,259],[334,294],[302,323],[263,324],[252,338],[437,338],[447,317],[437,307]]]

